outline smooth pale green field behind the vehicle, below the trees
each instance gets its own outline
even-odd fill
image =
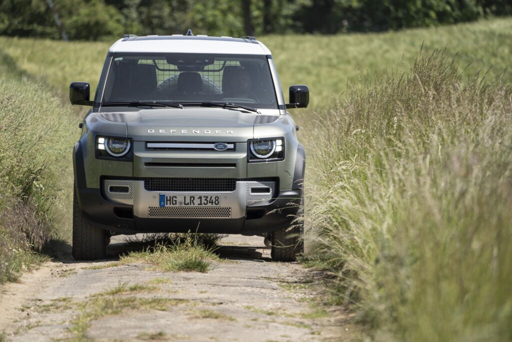
[[[389,33],[347,35],[270,35],[258,37],[272,51],[281,84],[310,87],[312,110],[332,107],[332,96],[347,89],[347,80],[358,82],[360,73],[374,73],[409,65],[425,50],[446,47],[458,53],[459,70],[469,65],[473,74],[492,67],[489,76],[506,68],[512,79],[512,19],[414,29]],[[109,46],[114,43],[15,39],[0,37],[0,47],[20,69],[44,80],[63,96],[73,81],[91,83],[95,89]]]

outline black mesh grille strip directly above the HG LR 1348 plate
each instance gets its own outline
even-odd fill
[[[230,192],[237,187],[237,178],[144,178],[147,191],[215,191]]]

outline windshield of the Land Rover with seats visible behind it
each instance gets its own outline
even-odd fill
[[[266,56],[115,54],[102,103],[223,102],[277,109]]]

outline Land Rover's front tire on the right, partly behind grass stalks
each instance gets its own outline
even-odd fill
[[[301,198],[297,217],[290,227],[272,232],[272,249],[270,255],[273,261],[295,261],[297,256],[304,253],[304,195]]]

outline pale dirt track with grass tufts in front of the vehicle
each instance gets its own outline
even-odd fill
[[[340,340],[351,333],[340,327],[343,312],[314,304],[311,275],[295,263],[272,263],[261,237],[225,237],[219,251],[229,261],[208,273],[144,264],[100,268],[117,260],[121,242],[113,239],[110,259],[94,263],[77,263],[63,246],[54,261],[0,288],[4,337],[249,342]],[[121,293],[105,294],[116,289]],[[105,314],[111,305],[118,310]]]

